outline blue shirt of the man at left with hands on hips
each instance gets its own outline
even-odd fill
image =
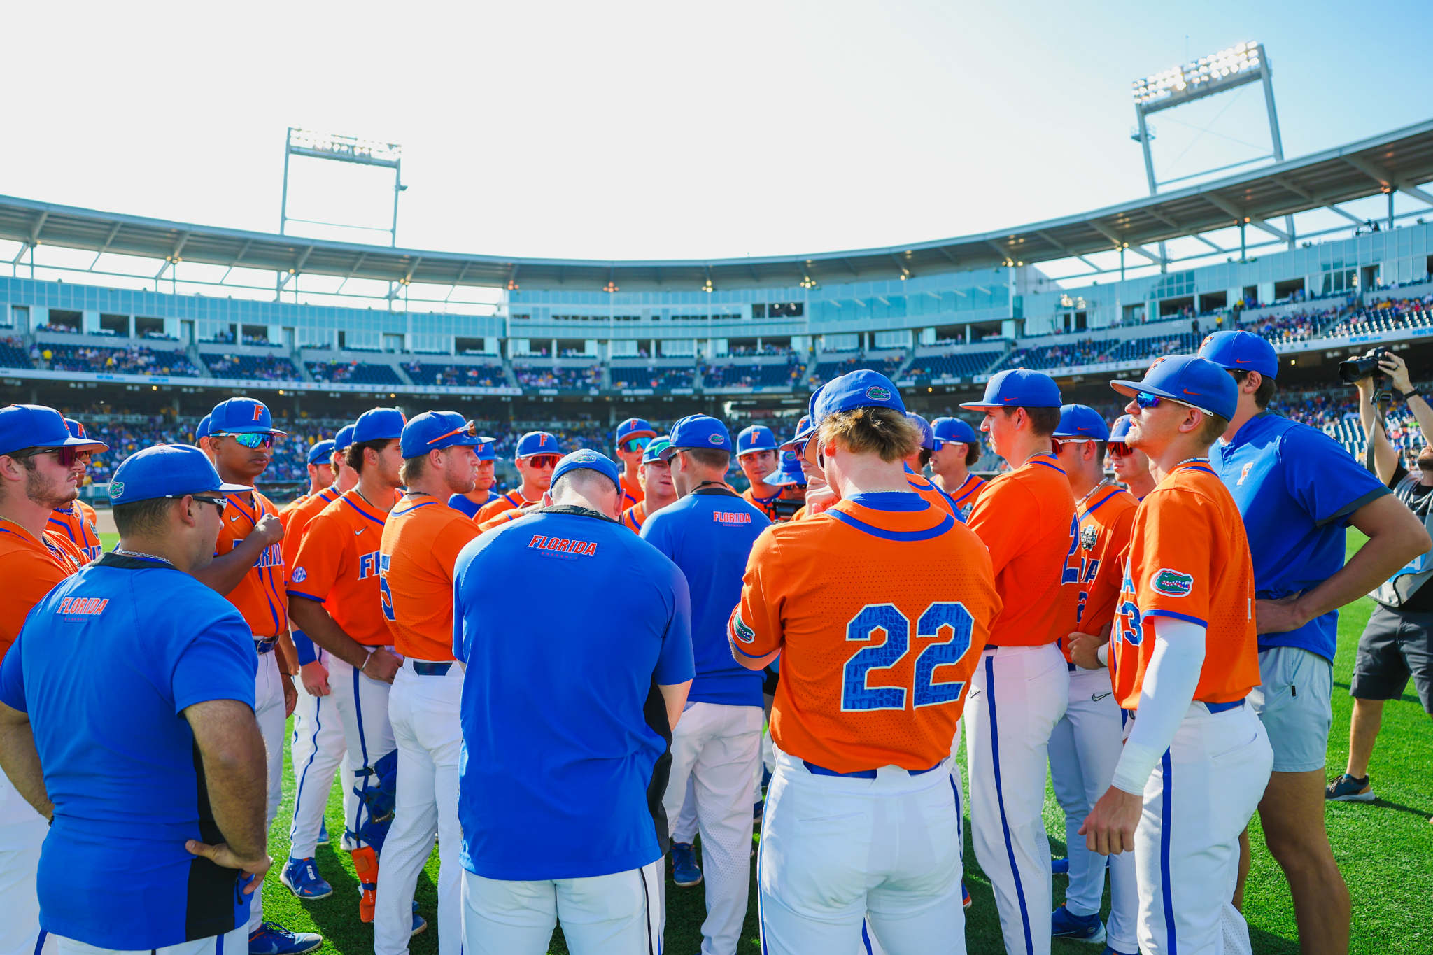
[[[183,848],[224,835],[181,713],[252,707],[257,666],[234,604],[159,561],[105,554],[34,606],[0,700],[30,714],[54,802],[37,879],[47,932],[136,951],[248,922],[242,873]]]

